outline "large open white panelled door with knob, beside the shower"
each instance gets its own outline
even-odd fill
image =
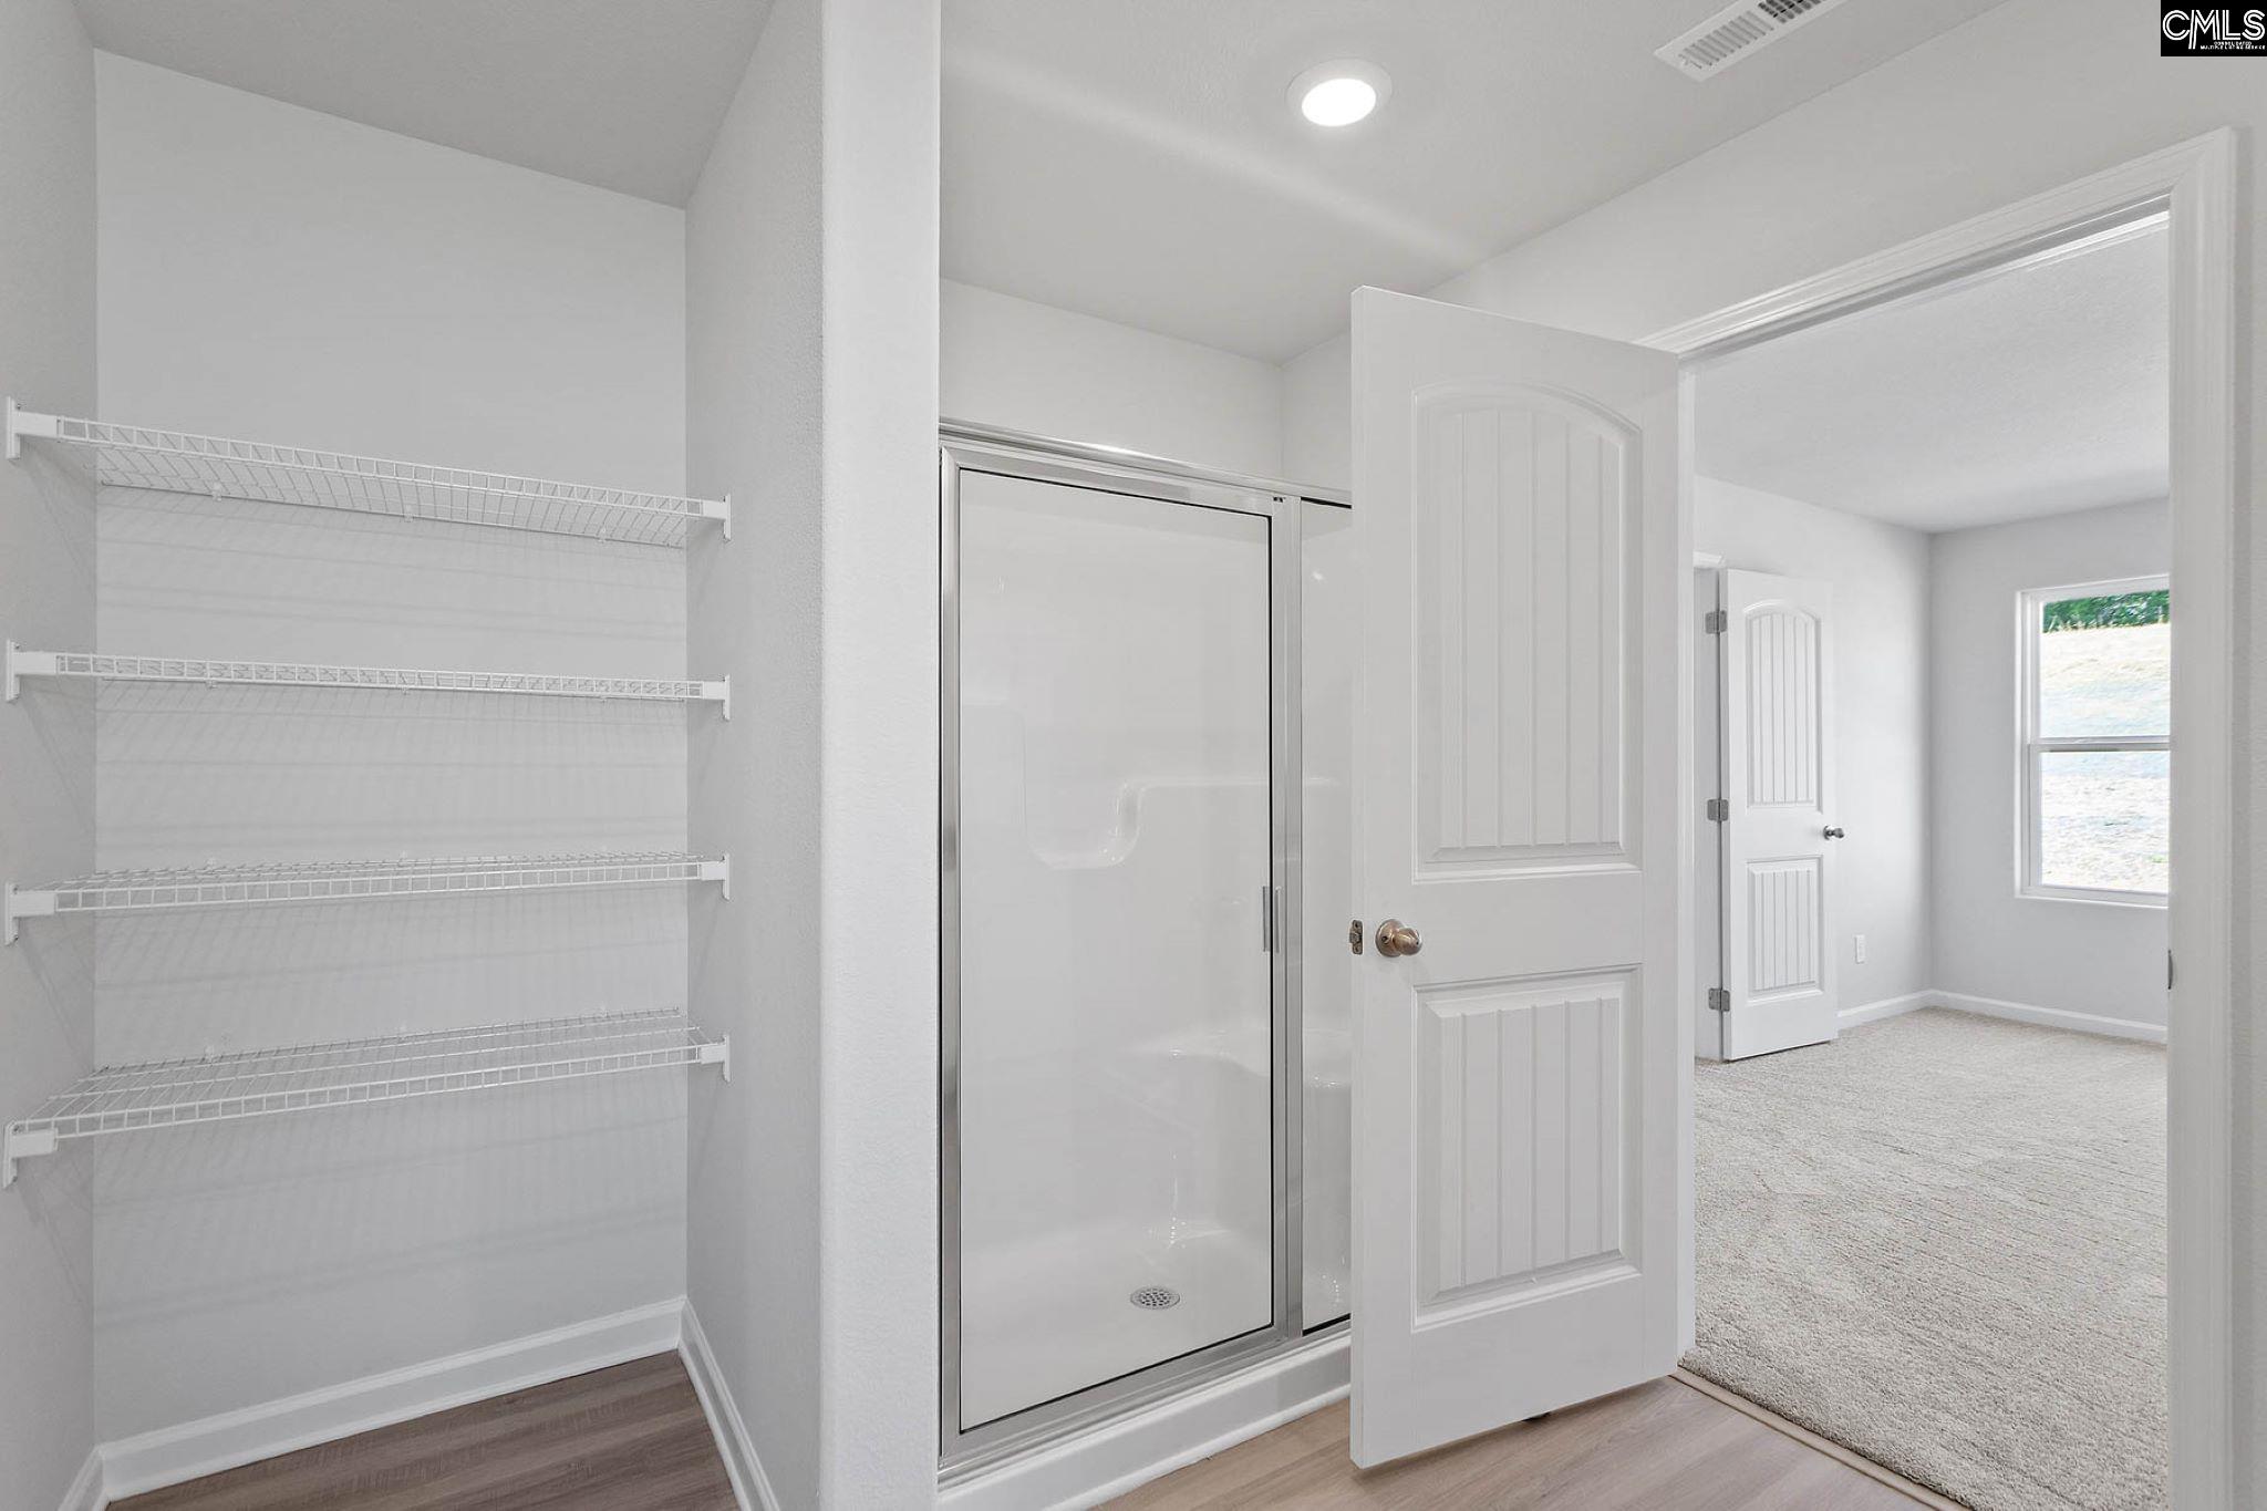
[[[1360,290],[1353,480],[1353,1459],[1381,1463],[1675,1366],[1678,362]]]

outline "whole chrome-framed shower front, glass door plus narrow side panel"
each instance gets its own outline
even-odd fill
[[[945,498],[943,1432],[954,1495],[1013,1502],[1063,1454],[1109,1477],[1084,1427],[1170,1439],[1347,1312],[1353,537],[966,430]]]

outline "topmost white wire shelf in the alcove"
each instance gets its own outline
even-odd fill
[[[9,399],[7,460],[16,460],[27,439],[91,453],[95,480],[113,487],[589,535],[642,546],[682,546],[696,523],[712,519],[723,528],[723,537],[732,539],[730,498],[678,498],[462,467],[388,462],[308,446],[113,426],[100,419],[36,415]]]

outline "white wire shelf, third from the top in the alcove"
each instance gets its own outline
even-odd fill
[[[678,852],[598,852],[578,856],[449,856],[415,861],[290,861],[279,865],[179,865],[107,870],[68,881],[7,886],[0,920],[7,942],[25,917],[66,913],[147,913],[156,908],[243,908],[274,902],[365,902],[465,893],[535,893],[592,886],[721,881],[732,895],[732,856]]]

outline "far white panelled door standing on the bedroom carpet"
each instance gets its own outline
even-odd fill
[[[1827,582],[1723,573],[1723,1058],[1834,1038]]]

